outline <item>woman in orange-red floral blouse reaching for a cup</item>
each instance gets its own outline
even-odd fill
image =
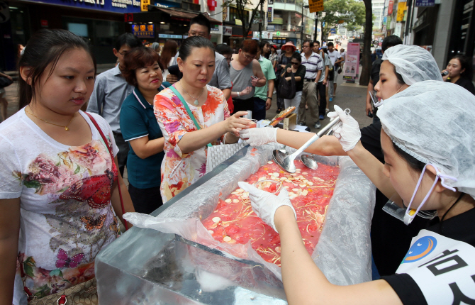
[[[178,65],[183,78],[172,87],[186,102],[199,128],[172,87],[155,96],[155,116],[165,138],[160,193],[163,202],[196,182],[206,172],[207,145],[236,143],[251,121],[230,116],[223,92],[208,86],[215,68],[213,43],[194,36],[181,44]]]

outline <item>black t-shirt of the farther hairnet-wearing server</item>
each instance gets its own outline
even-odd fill
[[[384,163],[381,149],[381,121],[362,128],[361,142],[366,150]],[[388,202],[376,189],[376,204],[371,220],[371,252],[379,275],[393,275],[401,264],[410,241],[419,231],[429,226],[429,220],[416,217],[409,226],[383,211]],[[437,220],[436,220],[437,221]]]

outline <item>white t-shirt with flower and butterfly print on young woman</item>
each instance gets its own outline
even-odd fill
[[[21,109],[0,124],[0,199],[20,198],[21,229],[13,304],[26,287],[41,298],[94,277],[94,259],[118,237],[111,205],[117,168],[96,127],[82,146],[58,143]],[[118,148],[108,123],[91,113]]]

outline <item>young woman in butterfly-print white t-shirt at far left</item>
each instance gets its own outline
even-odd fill
[[[0,304],[16,305],[94,278],[94,258],[119,235],[117,181],[133,211],[110,126],[92,114],[104,143],[79,111],[94,88],[89,45],[39,30],[19,67],[20,111],[0,124]]]

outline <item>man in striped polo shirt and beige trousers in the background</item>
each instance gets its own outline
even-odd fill
[[[306,125],[305,106],[308,105],[312,123],[315,128],[320,128],[318,116],[317,84],[320,80],[323,69],[323,60],[320,55],[313,52],[313,42],[305,40],[302,45],[302,65],[306,67],[305,79],[303,80],[303,91],[300,106],[298,106],[299,125]],[[326,101],[322,101],[325,102]],[[323,119],[323,116],[322,118]]]

